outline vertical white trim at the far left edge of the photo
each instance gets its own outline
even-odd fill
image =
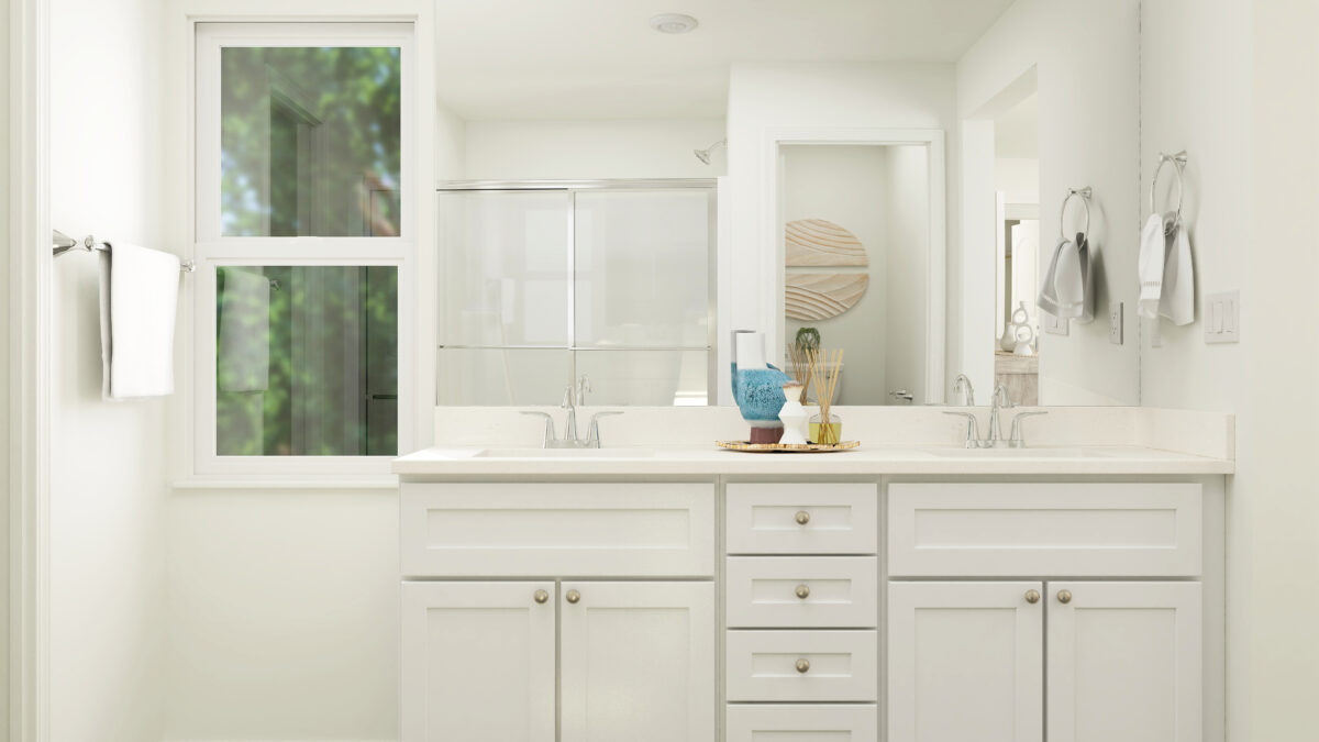
[[[9,4],[9,735],[50,738],[50,4]]]

